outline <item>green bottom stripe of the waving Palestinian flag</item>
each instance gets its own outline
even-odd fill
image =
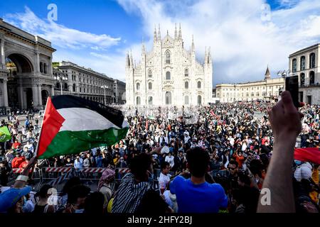
[[[39,158],[77,154],[102,144],[113,145],[124,138],[128,130],[129,128],[108,128],[94,131],[60,131]]]

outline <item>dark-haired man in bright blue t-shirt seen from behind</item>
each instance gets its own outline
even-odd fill
[[[195,147],[187,151],[187,167],[191,178],[177,176],[170,184],[171,194],[176,194],[178,213],[218,213],[228,206],[228,196],[220,184],[205,180],[210,156],[206,150]]]

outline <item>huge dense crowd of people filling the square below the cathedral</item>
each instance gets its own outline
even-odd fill
[[[21,196],[14,205],[1,212],[255,213],[274,150],[267,114],[273,105],[249,101],[182,108],[117,106],[129,123],[127,137],[119,143],[35,161],[36,167],[74,167],[77,172],[105,167],[95,191],[79,177],[68,179],[58,196],[49,184],[33,198],[31,188],[24,187],[17,191]],[[304,114],[302,130],[294,146],[319,148],[319,106],[305,105],[299,111]],[[41,127],[39,118],[26,116],[24,122],[16,114],[1,121],[12,135],[1,143],[3,187],[11,186],[13,168],[31,172]],[[114,187],[116,169],[124,167],[130,172]],[[319,212],[319,165],[295,160],[292,179],[296,210]],[[55,204],[50,203],[53,196],[58,198]]]

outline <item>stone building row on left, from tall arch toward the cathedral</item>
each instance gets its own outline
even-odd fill
[[[0,115],[15,109],[43,109],[48,96],[60,94],[54,76],[65,74],[63,94],[74,94],[104,102],[123,103],[125,84],[105,74],[60,62],[52,67],[55,49],[50,41],[22,31],[0,18]],[[53,73],[54,72],[54,73]]]

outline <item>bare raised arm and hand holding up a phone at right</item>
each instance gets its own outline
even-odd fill
[[[302,114],[294,107],[290,93],[283,92],[282,100],[269,111],[269,117],[274,149],[262,190],[270,189],[271,204],[263,205],[263,194],[260,194],[257,212],[295,212],[292,161],[294,144],[301,131]]]

